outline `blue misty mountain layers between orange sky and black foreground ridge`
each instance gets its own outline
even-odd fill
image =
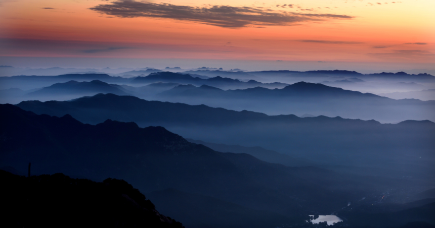
[[[32,224],[23,208],[78,191],[68,203],[128,227],[435,226],[430,74],[0,66],[0,76],[0,176],[8,194],[28,195],[3,203],[26,214],[19,225]]]

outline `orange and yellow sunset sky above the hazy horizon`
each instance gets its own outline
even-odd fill
[[[107,58],[430,68],[435,64],[433,9],[433,0],[0,0],[0,61]]]

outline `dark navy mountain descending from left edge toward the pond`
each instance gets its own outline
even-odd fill
[[[229,207],[238,213],[249,213],[245,218],[255,216],[254,221],[258,223],[297,224],[304,223],[309,213],[330,213],[367,194],[380,194],[391,187],[405,191],[415,188],[409,180],[339,174],[316,167],[289,167],[248,154],[216,152],[189,143],[162,127],[140,128],[135,123],[111,120],[97,125],[82,124],[69,115],[61,118],[35,115],[10,104],[0,105],[0,115],[3,139],[0,166],[16,167],[23,172],[31,161],[34,174],[62,172],[96,181],[122,178],[141,192],[160,191],[160,198],[154,193],[155,199],[162,199],[161,195],[164,199],[165,194],[171,199],[177,192],[164,190],[176,189],[187,193],[179,198],[181,202],[186,197],[188,203],[197,206],[203,200],[212,202],[208,207],[201,207],[202,214],[211,216],[215,211],[225,215],[221,219],[224,225],[234,216],[225,211]],[[164,203],[158,210],[172,210],[183,217],[183,206],[163,207]],[[165,215],[186,224],[198,221]],[[212,227],[212,221],[205,226]],[[240,222],[251,221],[238,222],[238,225],[228,222],[231,226],[225,226],[239,227]]]

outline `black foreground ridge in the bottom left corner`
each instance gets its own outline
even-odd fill
[[[0,181],[3,227],[184,227],[123,180],[26,178],[0,170]]]

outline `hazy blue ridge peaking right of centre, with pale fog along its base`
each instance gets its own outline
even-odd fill
[[[255,87],[221,90],[202,85],[178,86],[156,96],[158,100],[187,104],[206,104],[234,110],[252,110],[268,115],[292,113],[315,116],[377,120],[397,123],[405,120],[435,121],[435,101],[395,100],[322,84],[298,82],[282,89]]]

